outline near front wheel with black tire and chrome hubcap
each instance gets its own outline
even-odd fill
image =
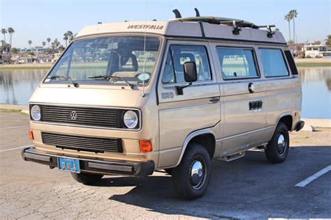
[[[189,144],[182,162],[172,169],[172,178],[178,196],[187,200],[203,196],[207,190],[211,172],[212,161],[207,150],[200,144]]]

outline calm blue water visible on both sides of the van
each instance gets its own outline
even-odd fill
[[[47,70],[0,70],[0,102],[28,104]],[[299,68],[302,117],[331,118],[331,67]]]

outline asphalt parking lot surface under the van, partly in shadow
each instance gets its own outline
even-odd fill
[[[27,115],[0,111],[0,219],[331,217],[331,171],[295,187],[330,166],[331,129],[291,134],[282,164],[269,164],[258,150],[233,162],[215,160],[205,196],[182,201],[165,173],[105,176],[85,186],[57,168],[24,162],[28,123]]]

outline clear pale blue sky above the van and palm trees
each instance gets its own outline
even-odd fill
[[[323,41],[331,34],[330,0],[147,0],[147,20],[174,18],[177,8],[183,17],[200,15],[233,17],[258,25],[275,24],[288,36],[288,22],[284,16],[295,9],[295,35],[297,42]],[[127,0],[0,0],[0,29],[13,27],[13,47],[41,46],[46,38],[58,38],[65,45],[63,35],[70,30],[78,33],[84,26],[98,22],[123,22],[145,20],[146,1]],[[293,26],[292,22],[291,25]],[[293,27],[291,34],[293,35]],[[3,40],[3,35],[0,36]],[[291,37],[293,38],[293,37]],[[6,41],[9,36],[7,34]]]

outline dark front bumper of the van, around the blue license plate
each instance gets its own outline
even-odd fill
[[[102,173],[109,175],[133,175],[146,176],[152,175],[154,172],[154,162],[128,162],[122,160],[110,160],[102,158],[87,158],[77,157],[72,155],[57,154],[54,152],[46,152],[36,150],[36,148],[24,148],[22,157],[26,161],[36,162],[50,166],[51,168],[59,167],[58,157],[71,157],[78,159],[80,162],[80,170],[86,173]]]

